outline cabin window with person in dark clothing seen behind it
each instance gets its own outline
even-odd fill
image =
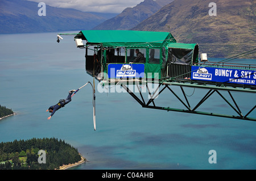
[[[138,54],[136,53],[138,50]],[[146,48],[127,48],[127,63],[142,63],[146,62]],[[138,56],[137,56],[138,55]]]

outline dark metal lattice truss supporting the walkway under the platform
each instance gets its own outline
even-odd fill
[[[164,110],[164,111],[175,111],[175,112],[184,112],[184,113],[193,113],[193,114],[198,114],[198,115],[208,115],[208,116],[217,116],[217,117],[226,117],[226,118],[231,118],[231,119],[240,119],[240,120],[249,120],[249,121],[256,121],[256,118],[254,117],[248,117],[251,112],[253,112],[256,108],[256,105],[252,107],[250,110],[248,110],[246,113],[242,113],[240,107],[238,106],[238,103],[234,99],[234,96],[232,95],[233,91],[236,92],[250,92],[250,93],[256,93],[256,90],[251,90],[251,89],[238,89],[238,88],[232,88],[232,87],[217,87],[217,86],[204,86],[204,85],[189,85],[185,83],[171,83],[171,82],[163,82],[159,83],[157,89],[154,92],[150,92],[150,89],[148,89],[148,85],[146,84],[148,95],[150,96],[150,99],[148,102],[145,102],[145,99],[143,97],[143,94],[141,90],[139,89],[139,85],[135,85],[139,91],[139,94],[141,98],[139,98],[137,95],[134,94],[133,91],[131,91],[125,84],[121,85],[123,89],[125,89],[143,108],[151,108],[151,109],[156,109],[156,110]],[[182,98],[175,93],[174,90],[172,90],[171,86],[179,86],[180,90],[182,92],[182,95],[184,96],[185,101],[182,100]],[[195,89],[208,89],[209,91],[207,94],[203,96],[199,100],[199,102],[196,104],[195,107],[191,107],[191,104],[188,101],[188,96],[185,94],[183,87],[194,87]],[[161,88],[161,90],[160,90]],[[183,104],[184,109],[180,108],[174,108],[174,107],[162,107],[158,106],[155,103],[155,99],[162,94],[164,90],[169,90],[171,94],[173,94],[177,100],[181,104]],[[228,92],[230,98],[232,99],[232,103],[228,101],[228,99],[225,98],[224,95],[221,94],[220,91],[226,91]],[[205,102],[205,100],[210,99],[211,96],[216,93],[220,95],[222,100],[226,102],[229,105],[229,108],[234,110],[237,115],[226,115],[226,114],[221,114],[221,113],[213,113],[213,112],[202,112],[202,111],[197,111],[198,108]],[[174,106],[174,105],[173,105]]]

